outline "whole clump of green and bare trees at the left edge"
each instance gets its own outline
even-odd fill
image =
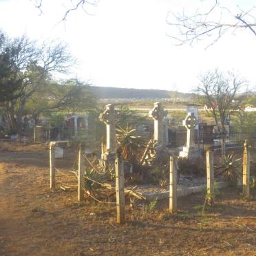
[[[50,111],[80,111],[95,103],[89,85],[75,79],[54,81],[55,74],[68,72],[74,64],[64,43],[38,45],[27,36],[8,39],[0,52],[1,63],[1,112],[10,132],[21,132],[25,115],[37,119]]]

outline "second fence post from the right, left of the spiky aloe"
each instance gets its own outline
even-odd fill
[[[206,151],[206,174],[207,174],[207,201],[209,205],[214,203],[214,169],[213,151]]]

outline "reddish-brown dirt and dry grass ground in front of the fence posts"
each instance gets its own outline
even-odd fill
[[[50,191],[48,147],[3,142],[0,193],[0,255],[256,255],[253,190],[243,200],[241,188],[220,189],[211,209],[204,193],[178,198],[173,215],[168,200],[127,202],[118,225],[114,204],[78,203],[76,188]]]

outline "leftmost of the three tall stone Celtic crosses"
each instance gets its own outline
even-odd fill
[[[107,127],[107,153],[116,153],[116,115],[114,105],[106,105],[106,110],[100,114],[100,121]]]

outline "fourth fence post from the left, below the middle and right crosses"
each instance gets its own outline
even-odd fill
[[[169,183],[169,211],[173,213],[177,209],[177,169],[175,158],[170,156],[170,183]]]

